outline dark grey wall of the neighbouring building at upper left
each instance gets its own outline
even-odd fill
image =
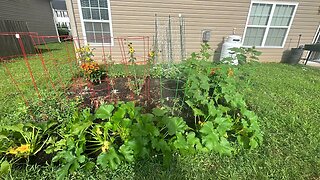
[[[25,21],[39,35],[57,35],[50,0],[1,0],[0,19]]]

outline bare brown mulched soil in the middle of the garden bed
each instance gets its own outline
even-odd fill
[[[68,93],[70,98],[83,98],[82,106],[92,107],[93,110],[103,102],[134,101],[146,112],[151,112],[155,107],[163,104],[172,106],[175,99],[183,98],[184,82],[181,80],[146,77],[139,94],[130,90],[129,81],[129,77],[110,77],[100,83],[92,83],[79,77],[73,80]]]

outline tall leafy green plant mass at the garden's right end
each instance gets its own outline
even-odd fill
[[[237,152],[236,142],[250,149],[261,144],[258,118],[236,91],[235,70],[229,65],[213,67],[194,57],[186,67],[185,99],[204,147],[230,155]]]

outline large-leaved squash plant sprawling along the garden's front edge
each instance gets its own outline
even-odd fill
[[[163,109],[153,109],[152,113],[141,110],[133,102],[120,102],[101,105],[95,113],[89,109],[76,112],[61,125],[59,138],[52,138],[46,149],[55,154],[53,162],[60,163],[58,179],[79,168],[90,170],[94,164],[116,169],[123,161],[156,154],[169,164],[172,152],[181,149],[178,136],[190,128],[182,118],[168,116]]]

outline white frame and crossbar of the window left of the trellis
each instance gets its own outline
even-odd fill
[[[84,19],[83,19],[83,15],[82,15],[81,2],[80,2],[80,0],[77,0],[77,2],[78,2],[78,8],[79,8],[79,16],[80,16],[80,22],[81,22],[81,30],[82,30],[83,41],[84,41],[85,45],[87,45],[88,41],[87,41],[87,35],[86,35],[86,31],[85,31],[85,26],[84,26]],[[109,20],[85,20],[85,21],[87,21],[87,22],[89,22],[89,21],[90,22],[108,22],[109,26],[110,26],[111,43],[89,43],[90,46],[96,46],[96,47],[97,46],[114,46],[112,17],[111,17],[111,4],[110,4],[110,0],[107,0],[107,2],[108,2]],[[102,8],[102,9],[106,9],[106,8]]]

